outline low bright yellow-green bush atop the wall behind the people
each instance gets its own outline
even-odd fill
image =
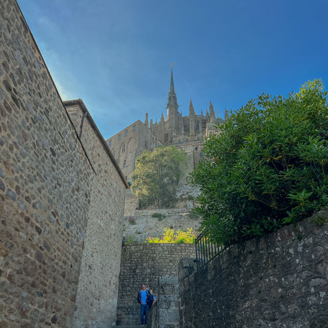
[[[184,230],[178,230],[174,231],[174,229],[171,228],[164,228],[163,235],[158,237],[148,237],[145,242],[148,243],[194,243],[195,242],[195,231],[193,228],[187,229],[187,231]]]

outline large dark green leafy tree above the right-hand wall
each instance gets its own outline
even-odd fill
[[[288,96],[262,94],[231,113],[191,174],[203,218],[228,245],[296,222],[328,201],[328,108],[321,80]]]

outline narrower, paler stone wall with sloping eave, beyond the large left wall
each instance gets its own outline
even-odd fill
[[[65,101],[96,172],[73,327],[108,327],[116,320],[125,185],[92,127],[81,99]],[[85,116],[85,119],[83,117]],[[103,140],[105,143],[105,140]]]

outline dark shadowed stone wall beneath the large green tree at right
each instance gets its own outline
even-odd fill
[[[180,328],[327,327],[328,223],[234,245],[180,279],[179,297]]]

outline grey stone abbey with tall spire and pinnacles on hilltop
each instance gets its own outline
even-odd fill
[[[171,66],[167,116],[164,118],[162,113],[160,120],[157,121],[156,118],[153,122],[153,119],[148,120],[146,113],[145,122],[137,120],[106,140],[128,182],[135,169],[136,157],[144,150],[151,151],[154,147],[162,145],[175,145],[178,149],[185,150],[191,159],[188,167],[188,171],[191,172],[202,157],[204,139],[210,133],[217,133],[214,126],[224,122],[219,116],[216,117],[212,101],[210,111],[206,110],[206,115],[202,110],[200,115],[195,113],[191,99],[189,115],[183,116],[178,107]],[[224,116],[227,117],[227,110]]]

